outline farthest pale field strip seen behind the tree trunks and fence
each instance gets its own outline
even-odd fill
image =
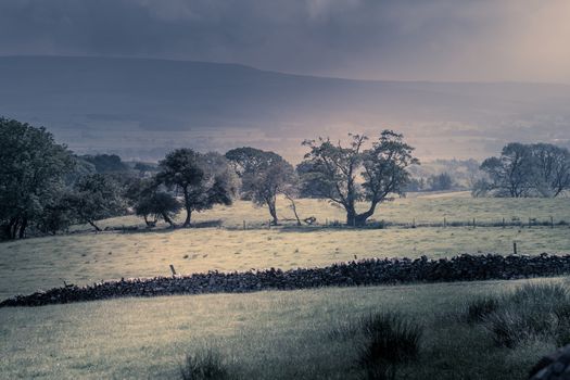
[[[315,216],[318,224],[339,220],[344,223],[346,214],[338,206],[325,200],[303,199],[296,202],[301,218]],[[288,201],[278,200],[278,214],[282,221],[292,223],[293,213]],[[359,206],[364,210],[364,205]],[[381,204],[370,220],[388,223],[417,224],[447,221],[499,223],[509,221],[527,224],[529,218],[555,223],[560,220],[570,224],[570,198],[558,199],[473,199],[468,191],[452,193],[410,193],[408,198],[397,198],[393,202]],[[237,201],[232,206],[217,206],[204,213],[194,213],[193,221],[220,220],[225,227],[242,228],[243,221],[250,227],[267,226],[269,214],[266,207],[255,207],[251,202]],[[183,218],[180,217],[179,221]],[[141,218],[128,216],[109,219],[103,226],[143,226]],[[89,227],[85,227],[89,228]]]

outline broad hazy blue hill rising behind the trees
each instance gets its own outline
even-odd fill
[[[300,160],[318,135],[402,130],[418,155],[476,157],[506,141],[569,144],[570,86],[364,81],[235,64],[0,58],[0,115],[43,125],[78,153],[156,160],[175,147],[252,144]]]

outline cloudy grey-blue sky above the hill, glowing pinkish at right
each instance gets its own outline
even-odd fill
[[[1,0],[0,55],[570,84],[569,0]]]

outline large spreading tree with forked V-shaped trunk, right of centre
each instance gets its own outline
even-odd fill
[[[305,154],[307,180],[314,185],[314,192],[344,207],[346,224],[362,226],[378,204],[390,200],[392,193],[404,193],[409,181],[406,168],[419,161],[411,155],[414,148],[404,142],[403,136],[392,130],[381,132],[370,149],[364,144],[368,137],[349,135],[349,147],[330,139],[306,140],[309,148]],[[368,201],[368,208],[356,212],[356,202]]]

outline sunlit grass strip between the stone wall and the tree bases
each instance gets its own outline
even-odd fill
[[[438,258],[460,253],[570,252],[570,229],[418,228],[382,230],[177,229],[74,235],[0,244],[0,299],[67,283],[207,270],[325,266],[366,257]]]

